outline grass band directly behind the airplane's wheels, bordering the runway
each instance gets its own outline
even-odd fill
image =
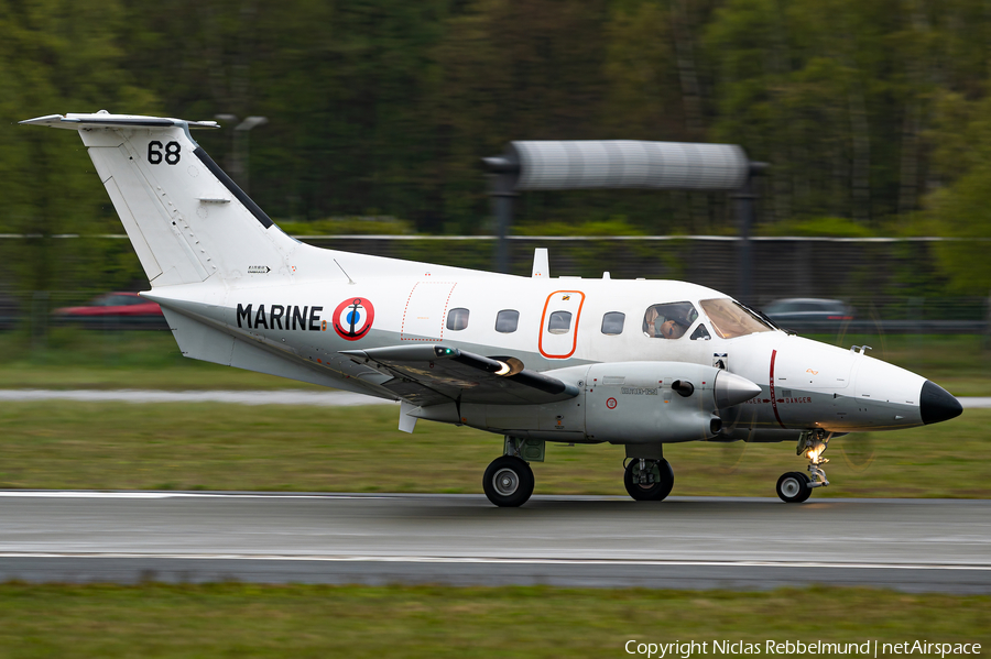
[[[9,403],[0,409],[0,486],[95,490],[481,492],[499,436],[421,421],[399,407]],[[989,497],[991,410],[904,430],[851,435],[826,453],[815,496]],[[623,449],[547,444],[536,493],[618,494]],[[774,496],[804,470],[791,442],[671,444],[675,495]]]

